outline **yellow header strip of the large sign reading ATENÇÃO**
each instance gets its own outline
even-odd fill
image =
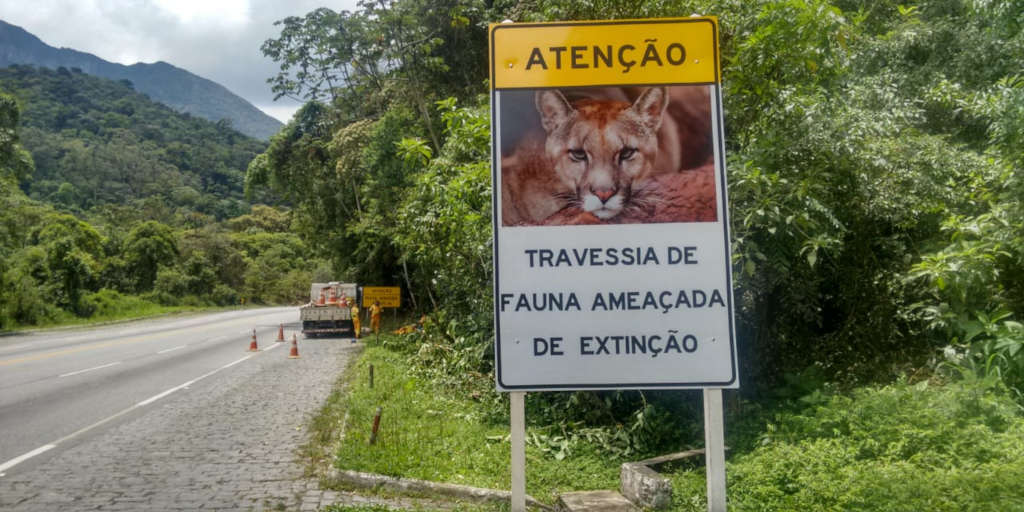
[[[718,18],[493,24],[495,89],[719,82]]]

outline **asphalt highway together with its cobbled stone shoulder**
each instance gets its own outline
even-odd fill
[[[316,510],[297,449],[358,344],[295,308],[0,338],[0,510]],[[248,352],[256,329],[259,352]]]

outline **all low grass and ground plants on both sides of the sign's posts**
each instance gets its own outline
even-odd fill
[[[337,391],[317,417],[312,457],[340,469],[508,488],[507,401],[496,415],[495,391],[421,377],[410,362],[418,357],[369,346],[346,374],[350,392]],[[813,387],[779,402],[727,408],[730,510],[1024,511],[1024,410],[999,386]],[[377,407],[380,434],[370,444]],[[556,460],[529,441],[545,431],[527,427],[528,494],[551,503],[563,492],[618,488],[625,461],[586,443]],[[658,470],[675,489],[670,510],[707,510],[701,461]]]

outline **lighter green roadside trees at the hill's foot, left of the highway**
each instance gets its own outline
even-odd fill
[[[288,213],[266,206],[195,228],[127,216],[93,227],[16,189],[0,201],[10,207],[0,211],[0,329],[299,303],[327,276],[298,237],[271,227]]]

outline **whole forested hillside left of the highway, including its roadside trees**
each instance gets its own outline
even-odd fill
[[[65,69],[0,99],[0,329],[305,299],[323,260],[243,198],[265,143]]]

